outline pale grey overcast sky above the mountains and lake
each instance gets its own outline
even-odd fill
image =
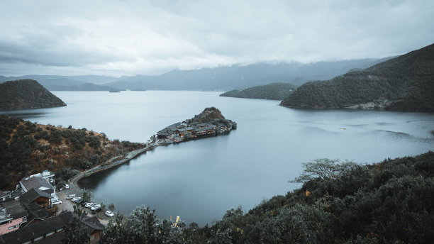
[[[433,0],[2,1],[0,75],[389,57],[434,43],[433,16]]]

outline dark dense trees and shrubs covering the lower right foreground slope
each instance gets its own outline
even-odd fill
[[[105,243],[432,243],[434,153],[371,165],[303,164],[299,189],[247,213],[230,209],[213,226],[158,220],[149,206],[111,219]]]

